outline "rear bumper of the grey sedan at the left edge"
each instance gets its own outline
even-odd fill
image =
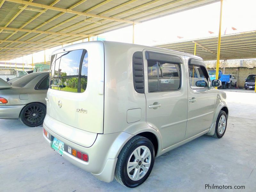
[[[25,105],[1,105],[0,119],[19,119],[20,111]]]

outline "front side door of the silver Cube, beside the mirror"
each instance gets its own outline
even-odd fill
[[[202,60],[186,57],[188,63],[188,123],[186,139],[209,129],[212,125],[215,91],[209,88],[210,78]],[[196,81],[204,80],[204,87]]]

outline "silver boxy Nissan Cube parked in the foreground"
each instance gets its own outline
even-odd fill
[[[96,178],[142,184],[155,157],[227,127],[226,93],[197,56],[93,41],[52,53],[43,135]]]

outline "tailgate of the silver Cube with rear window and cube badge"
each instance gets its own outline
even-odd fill
[[[65,48],[51,59],[47,114],[74,128],[103,133],[103,42]]]

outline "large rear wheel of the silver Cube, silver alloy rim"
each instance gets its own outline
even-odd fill
[[[148,178],[154,162],[155,149],[152,142],[136,135],[124,145],[119,153],[114,177],[117,182],[126,187],[137,187]]]

